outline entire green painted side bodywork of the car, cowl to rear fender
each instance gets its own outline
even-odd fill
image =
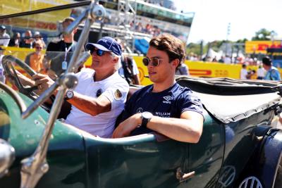
[[[27,105],[32,102],[20,96]],[[0,105],[10,120],[1,126],[1,138],[16,149],[16,161],[0,184],[19,187],[20,161],[35,151],[49,114],[39,108],[23,120],[16,102],[3,91]],[[204,111],[203,134],[197,144],[158,134],[104,139],[57,120],[47,153],[49,171],[37,187],[233,187],[259,145],[256,137],[270,128],[273,117],[274,108],[266,108],[222,123]],[[180,182],[178,168],[183,173],[195,171],[195,175]]]

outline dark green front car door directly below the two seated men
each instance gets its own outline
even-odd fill
[[[188,144],[156,138],[87,138],[89,187],[183,187],[176,171],[188,168]]]

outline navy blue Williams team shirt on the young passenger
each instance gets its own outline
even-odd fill
[[[195,111],[203,115],[203,107],[188,87],[178,83],[162,92],[152,92],[153,85],[137,90],[125,103],[121,122],[135,113],[148,111],[162,118],[180,118],[184,111]],[[137,127],[131,135],[152,132],[145,127]]]

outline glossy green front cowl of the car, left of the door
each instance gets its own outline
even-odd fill
[[[26,104],[32,102],[27,96],[23,94],[21,96]],[[0,185],[20,187],[20,161],[35,151],[49,114],[39,108],[23,120],[15,101],[1,89],[0,106],[1,118],[8,115],[9,121],[0,126],[0,137],[10,142],[16,151],[16,161],[8,175],[0,179]],[[78,169],[85,171],[85,143],[82,134],[62,125],[57,120],[49,143],[47,161],[50,165],[49,171],[39,181],[38,187],[69,187],[68,181],[75,184],[73,177],[70,180],[68,175],[75,173]],[[85,173],[83,176],[82,184],[86,187]]]

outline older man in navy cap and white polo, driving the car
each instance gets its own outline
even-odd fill
[[[82,68],[76,74],[78,86],[66,92],[71,113],[65,123],[99,137],[111,137],[129,90],[128,83],[117,71],[121,46],[115,39],[103,37],[97,44],[88,43],[85,47],[92,54],[91,69]],[[39,92],[54,83],[50,77],[42,74],[34,75],[32,79]]]

